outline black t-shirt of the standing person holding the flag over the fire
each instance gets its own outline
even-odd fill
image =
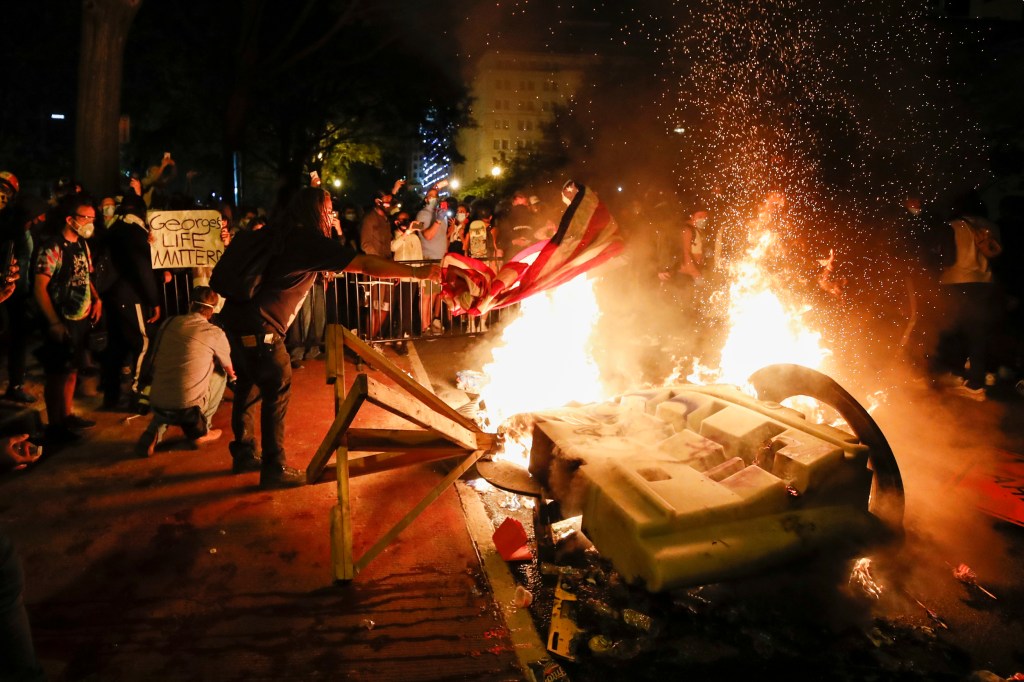
[[[350,247],[308,229],[295,229],[280,237],[280,252],[267,265],[253,300],[224,304],[221,314],[233,332],[267,330],[284,335],[309,293],[316,273],[340,272],[356,256]]]

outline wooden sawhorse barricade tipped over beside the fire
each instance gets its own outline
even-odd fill
[[[338,505],[331,510],[331,564],[335,581],[350,581],[384,550],[431,502],[454,483],[484,454],[495,451],[498,437],[459,413],[369,344],[340,325],[327,327],[327,381],[334,385],[335,418],[306,467],[306,481],[330,480],[328,463],[335,458]],[[345,349],[394,381],[404,392],[358,374],[345,394]],[[402,417],[417,429],[351,428],[364,402]],[[353,476],[436,462],[462,460],[437,485],[373,547],[356,559],[352,555],[352,509],[348,481]]]

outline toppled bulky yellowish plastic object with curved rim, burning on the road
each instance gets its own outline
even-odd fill
[[[683,384],[531,415],[530,474],[629,582],[671,590],[779,565],[902,525],[903,486],[867,412],[799,366],[758,397]],[[807,395],[850,430],[779,402]]]

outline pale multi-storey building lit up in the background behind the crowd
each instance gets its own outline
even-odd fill
[[[500,173],[516,154],[544,136],[555,106],[564,106],[597,57],[546,52],[487,52],[476,67],[471,94],[474,128],[459,131],[466,160],[456,169],[465,182]]]

